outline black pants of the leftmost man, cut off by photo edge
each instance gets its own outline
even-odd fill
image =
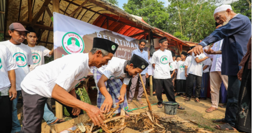
[[[0,132],[12,131],[12,101],[9,96],[0,96]]]

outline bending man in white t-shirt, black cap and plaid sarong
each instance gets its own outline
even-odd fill
[[[106,66],[100,80],[97,82],[100,90],[97,97],[97,106],[105,113],[109,112],[111,107],[115,107],[117,104],[120,104],[118,113],[121,112],[121,108],[128,110],[126,87],[129,85],[129,81],[133,75],[141,73],[147,66],[147,61],[136,54],[131,57],[131,60],[114,57],[110,61],[110,64]],[[119,79],[123,79],[123,84]],[[109,90],[107,89],[108,86]],[[112,98],[111,94],[115,95],[115,97]],[[113,105],[113,103],[116,105]]]

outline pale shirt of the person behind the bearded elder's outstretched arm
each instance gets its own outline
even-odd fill
[[[223,40],[224,39],[219,40],[216,43],[214,43],[213,46],[211,47],[211,49],[213,51],[221,51],[221,46],[222,46]],[[221,72],[222,54],[210,54],[210,55],[208,55],[207,53],[204,53],[204,54],[212,59],[212,65],[211,65],[210,72],[215,72],[215,71]]]

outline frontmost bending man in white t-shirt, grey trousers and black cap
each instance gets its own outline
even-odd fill
[[[21,132],[41,132],[47,98],[73,107],[73,115],[84,110],[95,125],[103,124],[103,113],[96,106],[79,101],[75,86],[87,77],[90,67],[100,68],[108,64],[117,48],[118,45],[112,41],[95,37],[89,53],[65,55],[31,71],[21,83],[24,103]]]

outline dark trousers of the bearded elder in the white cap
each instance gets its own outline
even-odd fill
[[[228,76],[228,102],[225,112],[225,121],[228,122],[232,127],[235,127],[236,122],[240,86],[241,81],[238,80],[237,76]]]

